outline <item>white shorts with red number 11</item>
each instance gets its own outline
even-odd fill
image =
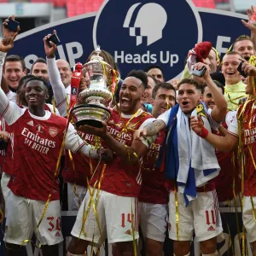
[[[196,241],[206,241],[218,236],[223,231],[218,210],[216,190],[197,193],[197,198],[185,207],[182,193],[177,192],[178,205],[178,239],[191,241],[195,230]],[[176,207],[174,192],[169,201],[169,237],[177,241]]]

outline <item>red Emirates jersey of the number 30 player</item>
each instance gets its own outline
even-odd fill
[[[60,198],[54,174],[66,124],[67,119],[54,114],[44,120],[33,118],[26,109],[9,125],[9,131],[15,134],[14,173],[9,189],[15,195],[38,201],[47,201],[50,193],[51,201]]]

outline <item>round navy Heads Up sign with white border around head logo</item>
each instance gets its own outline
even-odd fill
[[[140,34],[131,36],[130,27],[134,26],[139,10],[143,7],[143,5],[148,3],[158,3],[163,9],[165,9],[168,20],[162,31],[162,39],[159,39],[155,41],[154,44],[152,43],[147,46],[147,38],[144,37],[143,44],[137,45],[136,37]],[[159,63],[165,72],[167,70],[169,72],[169,68],[174,67],[172,70],[172,78],[180,78],[183,73],[183,64],[176,64],[180,63],[179,56],[188,54],[188,52],[184,52],[184,49],[189,49],[189,47],[186,46],[179,48],[179,44],[177,43],[179,40],[172,40],[173,43],[171,44],[176,44],[174,48],[172,48],[172,46],[170,46],[168,43],[171,42],[170,32],[172,32],[172,28],[175,31],[174,33],[172,32],[172,35],[175,35],[175,33],[178,31],[177,34],[183,37],[184,33],[182,33],[182,31],[187,29],[187,25],[181,23],[181,27],[183,28],[180,28],[179,25],[177,26],[175,22],[177,19],[179,19],[179,15],[177,11],[173,15],[173,11],[184,8],[186,14],[189,13],[187,17],[190,17],[189,24],[192,25],[195,35],[192,37],[193,39],[189,37],[190,42],[193,40],[193,43],[191,42],[190,45],[193,46],[199,42],[202,42],[203,26],[199,9],[195,7],[192,0],[180,0],[177,1],[177,3],[178,4],[175,5],[175,8],[173,9],[171,6],[172,3],[166,0],[129,0],[122,3],[121,6],[119,6],[118,0],[105,0],[96,13],[96,19],[94,20],[92,31],[94,48],[96,49],[97,45],[101,44],[103,49],[107,50],[113,55],[114,61],[119,63],[120,69],[124,68],[122,69],[122,73],[128,73],[129,70],[131,70],[131,66],[127,64],[132,64],[132,68],[143,69],[145,64],[152,65]],[[118,6],[120,7],[118,13],[113,15],[113,9],[116,9]],[[131,16],[131,24],[128,22],[130,19],[125,19],[127,15]],[[111,22],[108,23],[110,26],[106,27],[106,20],[108,20],[108,16]],[[192,30],[189,32],[192,32]],[[106,38],[108,38],[110,34],[113,35],[113,38],[121,38],[121,40],[125,42],[125,47],[123,47],[123,44],[120,44],[120,41],[116,39],[110,40],[112,44],[106,43],[109,42],[109,40],[106,41]],[[189,41],[187,39],[183,40],[183,42],[185,42],[184,44],[188,45]]]

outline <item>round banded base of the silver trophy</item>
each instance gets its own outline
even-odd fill
[[[101,128],[102,122],[110,119],[111,112],[108,108],[96,104],[81,104],[73,108],[70,114],[77,128],[82,125]]]

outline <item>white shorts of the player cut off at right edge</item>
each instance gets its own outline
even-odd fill
[[[256,211],[256,196],[252,197],[253,206]],[[247,230],[247,240],[256,241],[256,222],[253,217],[253,206],[251,196],[243,197],[242,222]]]

